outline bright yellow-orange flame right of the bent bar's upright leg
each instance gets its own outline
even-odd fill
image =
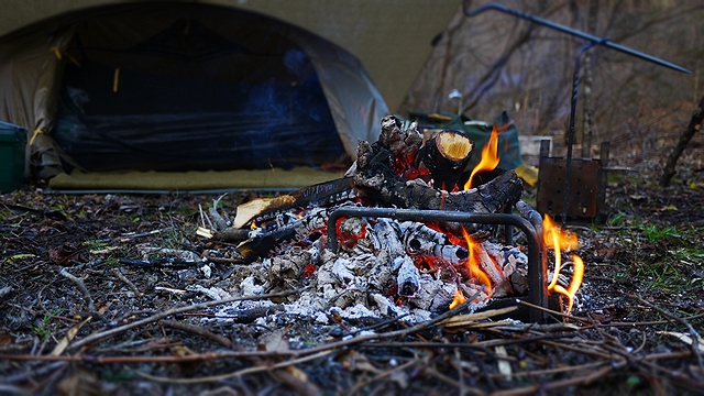
[[[584,262],[582,258],[576,254],[572,255],[572,279],[566,289],[558,285],[558,278],[562,267],[562,251],[576,249],[579,245],[578,237],[573,232],[562,230],[548,215],[546,215],[542,220],[542,237],[546,248],[552,248],[554,250],[554,268],[552,279],[548,285],[548,290],[559,293],[568,298],[566,314],[569,315],[572,310],[574,296],[580,289],[582,279],[584,278]]]

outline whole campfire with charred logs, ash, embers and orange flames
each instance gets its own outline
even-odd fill
[[[233,220],[213,202],[198,234],[237,242],[224,258],[246,264],[234,267],[229,293],[305,288],[279,302],[310,315],[336,307],[341,315],[427,320],[466,300],[475,310],[541,288],[563,295],[569,312],[583,264],[573,256],[571,277],[561,274],[562,252],[578,241],[547,216],[536,223],[539,215],[520,201],[521,180],[497,168],[498,134],[507,125],[494,127],[480,163],[465,172],[474,143],[461,132],[442,131],[424,141],[416,123],[394,116],[381,123],[378,141],[360,142],[356,162],[340,179],[240,205]],[[542,231],[534,270],[524,246],[513,244],[509,224],[502,237],[497,221],[443,217],[514,208],[531,230]],[[551,274],[547,248],[554,250]]]

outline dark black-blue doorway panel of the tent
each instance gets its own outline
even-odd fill
[[[81,45],[78,30],[80,66],[63,75],[54,136],[86,169],[289,168],[345,154],[310,58],[283,36],[248,46],[179,20],[110,51]]]

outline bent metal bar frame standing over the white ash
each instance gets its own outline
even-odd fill
[[[537,212],[536,212],[537,213]],[[338,220],[342,217],[392,218],[415,221],[450,221],[460,223],[507,224],[518,227],[526,234],[528,246],[528,301],[540,307],[548,307],[548,289],[544,277],[548,274],[547,261],[543,260],[542,240],[532,224],[520,216],[507,213],[466,213],[444,210],[394,209],[394,208],[339,208],[328,219],[328,248],[337,251]],[[539,216],[538,216],[539,217]],[[532,223],[531,223],[532,222]],[[540,226],[540,230],[542,227]],[[542,323],[544,312],[530,310],[530,320]]]

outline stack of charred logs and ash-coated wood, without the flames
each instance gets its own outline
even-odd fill
[[[360,271],[350,270],[354,267],[350,263],[360,262],[359,256],[366,257],[371,252],[367,257],[371,261],[360,265],[377,268],[374,270],[377,280],[373,289],[381,293],[392,284],[396,295],[408,300],[436,290],[437,295],[443,296],[436,302],[428,302],[437,297],[435,295],[422,304],[416,301],[417,306],[433,307],[446,305],[458,290],[469,295],[481,288],[481,285],[470,284],[473,275],[468,270],[470,252],[464,235],[471,235],[483,244],[484,251],[494,252],[491,258],[485,254],[485,263],[480,266],[490,274],[494,286],[503,284],[498,288],[509,293],[508,278],[520,266],[519,262],[526,260],[518,250],[506,254],[513,246],[487,242],[490,226],[422,224],[382,219],[342,219],[338,224],[328,224],[333,210],[349,205],[473,213],[502,212],[507,206],[515,205],[522,193],[522,184],[513,170],[495,172],[490,182],[463,189],[470,174],[465,167],[473,148],[473,142],[458,131],[442,131],[424,142],[416,123],[404,128],[399,119],[387,116],[382,119],[382,132],[376,142],[360,142],[358,160],[344,177],[273,200],[241,205],[231,227],[215,226],[216,230],[201,230],[200,234],[216,240],[242,241],[237,250],[244,263],[280,255],[280,260],[272,258],[270,268],[278,268],[277,273],[285,275],[270,275],[266,279],[270,285],[287,282],[290,286],[292,278],[309,273],[312,265],[314,270],[326,274],[318,279],[321,290],[330,276],[333,280],[329,284],[352,282],[350,271],[355,274]],[[212,211],[221,217],[217,215],[217,208],[211,215]],[[223,221],[212,223],[222,224]],[[358,256],[341,258],[336,255],[338,252],[322,254],[328,227],[338,230],[343,253],[352,254],[358,249]],[[298,252],[297,256],[292,256],[292,251]],[[428,272],[443,275],[424,275]]]

